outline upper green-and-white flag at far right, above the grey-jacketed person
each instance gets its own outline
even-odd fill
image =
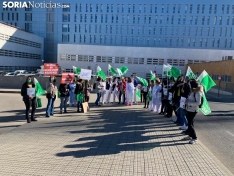
[[[197,78],[197,81],[204,86],[205,91],[209,91],[211,87],[215,86],[216,83],[209,76],[209,74],[204,70],[201,75]]]

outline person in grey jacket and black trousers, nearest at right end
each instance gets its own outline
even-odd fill
[[[202,94],[203,94],[203,87],[199,85],[199,83],[195,79],[189,80],[189,87],[190,92],[188,95],[188,99],[185,102],[185,109],[186,109],[186,117],[188,119],[188,132],[190,144],[194,144],[197,142],[197,135],[194,129],[194,118],[197,115],[199,110],[199,105],[202,103]]]

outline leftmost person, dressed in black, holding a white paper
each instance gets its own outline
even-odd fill
[[[22,85],[21,88],[21,96],[23,97],[24,104],[26,106],[26,119],[27,122],[30,123],[31,121],[37,121],[34,117],[35,111],[36,111],[36,96],[29,96],[27,93],[28,88],[35,88],[35,84],[32,81],[32,77],[28,76],[25,83]],[[35,91],[36,95],[36,91]],[[31,111],[31,119],[29,118],[29,110],[30,107],[32,106],[32,111]]]

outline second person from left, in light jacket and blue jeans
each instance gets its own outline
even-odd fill
[[[46,98],[48,100],[46,106],[46,117],[50,117],[54,115],[54,101],[56,100],[58,94],[55,76],[50,76],[49,82],[46,83],[46,91]]]

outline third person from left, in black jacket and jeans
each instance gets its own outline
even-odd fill
[[[60,84],[59,92],[60,92],[60,114],[62,114],[63,112],[67,113],[67,102],[69,100],[69,92],[70,92],[69,83]]]

